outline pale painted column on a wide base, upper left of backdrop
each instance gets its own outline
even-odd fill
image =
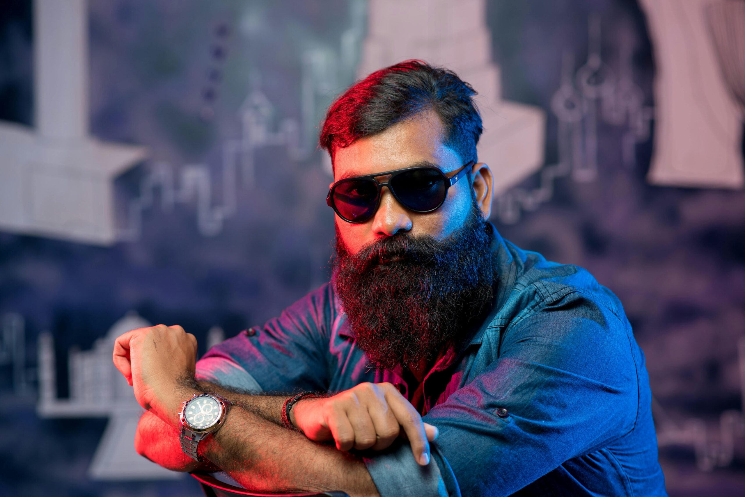
[[[114,243],[113,181],[145,149],[89,135],[86,0],[34,1],[34,109],[0,122],[0,229]]]

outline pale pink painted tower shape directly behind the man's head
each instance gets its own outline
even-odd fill
[[[542,167],[545,112],[502,100],[485,0],[370,0],[368,9],[359,77],[422,59],[471,83],[484,121],[478,158],[494,173],[495,198]]]

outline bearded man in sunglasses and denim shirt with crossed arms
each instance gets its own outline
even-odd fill
[[[140,454],[264,492],[666,495],[621,302],[488,221],[474,94],[410,60],[332,104],[332,280],[196,364],[181,327],[119,337]]]

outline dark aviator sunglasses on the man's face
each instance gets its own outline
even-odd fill
[[[435,211],[445,202],[448,188],[466,176],[473,164],[475,161],[460,167],[453,176],[445,176],[434,166],[418,166],[340,179],[329,188],[326,204],[346,222],[365,222],[378,210],[382,188],[388,187],[393,198],[409,211]],[[375,179],[388,175],[384,183]]]

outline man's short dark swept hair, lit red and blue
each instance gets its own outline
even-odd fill
[[[333,164],[338,148],[433,109],[445,127],[443,144],[464,163],[477,161],[476,144],[484,129],[475,94],[453,71],[405,60],[373,72],[338,97],[326,112],[319,144]]]

